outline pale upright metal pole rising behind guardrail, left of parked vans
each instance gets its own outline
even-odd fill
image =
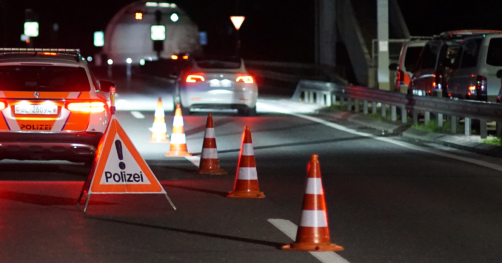
[[[378,82],[379,89],[390,90],[389,83],[389,0],[376,1],[378,23]]]

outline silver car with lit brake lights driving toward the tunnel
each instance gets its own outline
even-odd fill
[[[190,59],[178,78],[174,103],[184,114],[190,109],[237,109],[239,114],[256,115],[258,86],[237,57]]]

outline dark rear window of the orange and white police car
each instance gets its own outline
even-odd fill
[[[90,91],[82,67],[0,66],[0,90],[4,91]]]

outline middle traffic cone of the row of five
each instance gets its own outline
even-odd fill
[[[211,113],[207,114],[206,132],[204,133],[204,144],[202,145],[202,154],[200,157],[198,174],[206,175],[224,175],[218,161],[218,150],[216,150],[216,137],[214,135],[214,124]]]

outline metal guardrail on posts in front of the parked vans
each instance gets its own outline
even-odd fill
[[[413,123],[418,124],[419,112],[423,112],[425,122],[430,121],[430,114],[437,116],[438,126],[443,126],[444,115],[448,116],[451,123],[451,132],[456,133],[459,118],[464,118],[466,136],[471,135],[472,119],[480,121],[481,138],[487,137],[487,121],[497,122],[497,136],[502,135],[502,104],[484,101],[458,100],[440,97],[415,96],[399,92],[370,89],[360,86],[345,86],[341,84],[302,80],[298,83],[293,100],[304,100],[331,106],[338,99],[340,105],[346,104],[347,110],[362,111],[368,114],[368,103],[371,103],[371,114],[376,114],[377,104],[381,104],[381,114],[387,116],[387,105],[391,108],[391,120],[397,120],[397,108],[401,112],[411,112]],[[345,102],[346,99],[346,102]],[[354,103],[352,102],[354,100]],[[407,114],[401,114],[401,121],[408,121]]]

